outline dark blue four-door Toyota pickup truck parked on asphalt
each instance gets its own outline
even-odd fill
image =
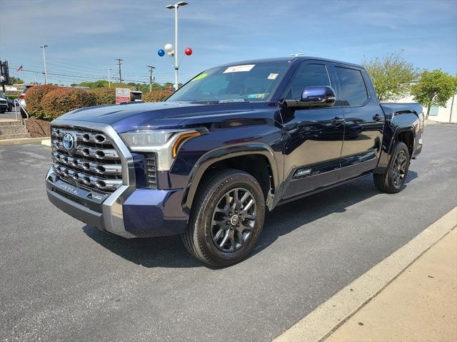
[[[253,249],[266,210],[373,173],[402,190],[418,103],[379,104],[365,69],[322,58],[211,68],[162,103],[74,110],[51,125],[52,203],[122,237],[181,234],[213,266]]]

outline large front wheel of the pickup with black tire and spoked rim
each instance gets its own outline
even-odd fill
[[[183,242],[196,259],[211,266],[229,266],[251,252],[264,217],[265,199],[257,180],[240,170],[225,170],[196,194]]]

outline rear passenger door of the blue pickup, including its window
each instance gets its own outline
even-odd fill
[[[336,85],[333,108],[344,118],[341,180],[346,180],[363,175],[378,164],[384,115],[362,68],[332,64],[330,69]]]

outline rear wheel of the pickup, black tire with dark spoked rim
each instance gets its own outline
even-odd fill
[[[404,142],[397,141],[393,146],[391,159],[388,161],[386,172],[382,174],[373,174],[373,180],[376,187],[388,194],[396,194],[403,190],[406,177],[408,177],[408,168],[411,162],[408,147]]]

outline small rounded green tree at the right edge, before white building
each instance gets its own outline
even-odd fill
[[[457,92],[457,77],[453,77],[441,69],[423,71],[413,88],[411,95],[414,100],[427,107],[426,119],[432,105],[446,107],[446,102]]]

